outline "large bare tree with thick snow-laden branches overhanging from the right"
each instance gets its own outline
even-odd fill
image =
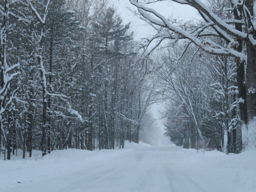
[[[207,3],[207,1],[200,0],[172,0],[174,3],[195,8],[201,16],[197,23],[182,25],[178,24],[176,19],[166,18],[147,5],[163,2],[163,0],[143,1],[144,3],[130,0],[130,2],[137,7],[141,18],[156,31],[153,37],[145,40],[143,48],[147,51],[147,55],[151,54],[164,40],[186,39],[189,43],[184,52],[192,43],[199,50],[209,54],[234,57],[237,62],[241,120],[243,123],[250,123],[256,117],[256,17],[254,15],[254,1],[209,1],[210,3]],[[215,3],[223,4],[223,14],[216,11],[219,7]],[[222,40],[220,41],[220,39]],[[225,44],[222,43],[223,41]],[[152,46],[154,42],[155,45]],[[184,52],[182,52],[181,57]],[[173,58],[173,60],[175,59]],[[225,106],[225,109],[228,109],[228,106]]]

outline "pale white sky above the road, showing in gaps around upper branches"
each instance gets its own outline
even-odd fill
[[[131,29],[135,33],[136,40],[154,34],[152,27],[148,26],[131,11],[136,10],[136,8],[129,0],[109,0],[109,2],[117,9],[124,23],[131,22]],[[182,20],[191,20],[197,17],[197,11],[194,8],[169,1],[154,3],[151,8],[154,8],[167,18],[172,16]]]

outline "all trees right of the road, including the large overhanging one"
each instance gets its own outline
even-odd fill
[[[145,54],[167,48],[152,69],[169,100],[166,134],[186,148],[203,143],[225,153],[255,148],[255,3],[170,1],[198,12],[196,20],[185,22],[154,9],[167,1],[130,2],[155,31],[144,41]]]

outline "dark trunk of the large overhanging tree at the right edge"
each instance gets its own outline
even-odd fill
[[[253,15],[253,1],[245,1],[245,5],[247,6],[251,15]],[[232,2],[231,2],[232,4]],[[233,4],[232,4],[233,5]],[[238,10],[240,13],[243,12],[243,8],[239,7]],[[247,15],[247,13],[244,13]],[[238,15],[237,10],[233,10],[233,15],[235,19],[242,19],[242,14]],[[248,15],[247,15],[248,17]],[[251,27],[250,22],[248,22],[248,27]],[[242,24],[236,24],[236,29],[242,31]],[[256,31],[251,30],[248,33],[252,34],[254,39],[256,38]],[[242,52],[243,50],[243,41],[242,39],[238,39],[239,47],[238,51]],[[245,62],[237,60],[237,81],[238,81],[238,91],[240,99],[240,113],[241,120],[247,124],[248,121],[252,120],[256,116],[256,46],[251,44],[251,41],[247,39],[245,41],[246,49],[247,49],[247,63],[246,63],[246,74],[245,71]],[[245,74],[245,76],[244,76]],[[246,81],[245,81],[246,77]],[[245,82],[245,83],[244,83]]]

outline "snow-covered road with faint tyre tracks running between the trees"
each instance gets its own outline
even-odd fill
[[[234,173],[243,176],[241,171],[243,172],[244,167],[233,170],[236,163],[240,163],[239,159],[234,159],[233,164],[223,164],[229,161],[226,158],[228,156],[219,152],[206,153],[203,156],[195,150],[185,151],[176,146],[140,146],[122,153],[121,150],[117,151],[118,155],[105,161],[92,163],[90,166],[83,166],[79,161],[79,166],[72,172],[44,177],[25,186],[4,191],[255,191],[250,182],[241,183],[239,176],[234,177]],[[101,158],[104,160],[103,155]]]

